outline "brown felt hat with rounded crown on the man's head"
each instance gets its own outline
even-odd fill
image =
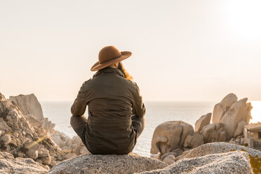
[[[91,71],[95,72],[116,62],[121,62],[122,60],[131,56],[130,51],[119,51],[115,46],[105,46],[99,53],[99,61],[91,67]]]

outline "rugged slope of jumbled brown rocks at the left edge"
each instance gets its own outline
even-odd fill
[[[0,150],[2,152],[11,153],[15,158],[34,159],[45,168],[52,167],[65,159],[65,152],[55,145],[50,135],[31,126],[27,116],[15,102],[7,100],[1,93],[0,96]]]

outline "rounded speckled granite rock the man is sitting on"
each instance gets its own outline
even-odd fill
[[[126,155],[81,155],[58,163],[51,168],[54,173],[140,173],[164,168],[168,164],[138,154]]]

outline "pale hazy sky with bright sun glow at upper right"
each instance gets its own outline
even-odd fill
[[[261,1],[0,0],[0,92],[74,100],[104,46],[144,100],[261,100]]]

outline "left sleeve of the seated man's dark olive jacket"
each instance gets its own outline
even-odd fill
[[[84,86],[82,85],[77,98],[74,100],[74,104],[71,107],[73,116],[82,116],[86,110],[86,96],[84,95],[83,90]]]

